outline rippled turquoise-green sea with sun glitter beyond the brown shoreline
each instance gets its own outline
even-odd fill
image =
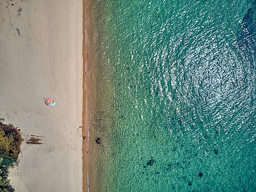
[[[255,1],[94,8],[112,100],[99,191],[256,191]]]

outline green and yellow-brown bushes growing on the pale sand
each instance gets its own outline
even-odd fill
[[[17,162],[22,138],[13,125],[0,119],[0,191],[14,191],[8,180],[8,168]]]

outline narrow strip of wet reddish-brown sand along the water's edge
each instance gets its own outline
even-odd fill
[[[83,192],[89,191],[90,184],[90,108],[93,103],[93,44],[90,22],[90,0],[83,0]]]

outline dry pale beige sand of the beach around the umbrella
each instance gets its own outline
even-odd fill
[[[18,192],[82,191],[82,13],[78,0],[0,1],[0,118],[24,138]]]

